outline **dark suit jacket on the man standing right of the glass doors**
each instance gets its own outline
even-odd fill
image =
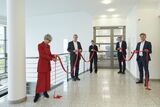
[[[118,50],[118,48],[120,48],[120,45],[119,45],[119,42],[116,43],[116,50],[117,50],[117,53],[118,55],[120,55],[120,51]],[[126,49],[127,49],[127,43],[125,41],[122,41],[122,53],[123,55],[127,55],[127,52],[126,52]]]

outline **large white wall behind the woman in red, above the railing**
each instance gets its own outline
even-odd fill
[[[92,17],[82,12],[27,18],[26,55],[38,56],[37,45],[46,33],[53,36],[51,50],[54,53],[63,53],[63,39],[71,41],[75,33],[79,35],[83,50],[88,51],[92,32]]]

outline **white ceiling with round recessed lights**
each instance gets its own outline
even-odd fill
[[[25,0],[26,15],[47,15],[67,12],[86,12],[94,17],[106,14],[120,14],[126,17],[139,0],[112,0],[111,4],[104,5],[101,0]],[[153,3],[160,0],[142,0]],[[106,9],[115,8],[113,13]],[[6,16],[6,0],[0,0],[0,16]]]

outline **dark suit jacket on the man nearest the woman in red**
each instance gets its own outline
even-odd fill
[[[82,49],[81,43],[77,41],[77,45],[78,45],[78,49]],[[75,57],[75,48],[74,48],[74,43],[73,41],[68,43],[68,52],[70,52],[70,58],[74,58]],[[80,56],[79,56],[80,57]]]

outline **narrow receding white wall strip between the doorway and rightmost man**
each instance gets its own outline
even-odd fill
[[[128,54],[127,57],[131,56],[131,52],[135,50],[136,44],[137,44],[137,38],[138,38],[138,10],[137,7],[134,7],[130,14],[127,17],[127,26],[126,26],[126,42],[128,45]],[[137,62],[136,62],[136,55],[133,57],[133,59],[129,62],[127,62],[127,69],[130,71],[130,73],[138,78],[138,68],[137,68]]]

